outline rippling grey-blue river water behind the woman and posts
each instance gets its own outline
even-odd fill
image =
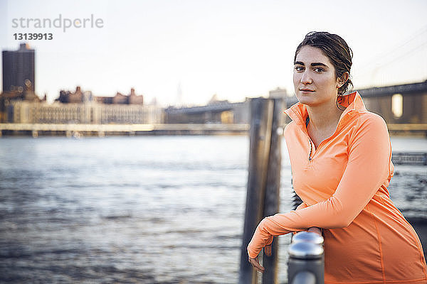
[[[427,151],[392,138],[394,151]],[[0,139],[0,283],[237,283],[246,136]],[[280,210],[289,211],[283,144]],[[427,218],[427,170],[391,197]],[[280,283],[288,236],[279,237]]]

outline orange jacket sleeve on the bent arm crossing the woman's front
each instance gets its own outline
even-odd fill
[[[391,145],[381,116],[370,114],[359,121],[349,138],[348,163],[337,190],[327,200],[285,214],[265,217],[255,229],[248,255],[258,256],[271,236],[302,231],[312,226],[344,228],[362,212],[379,187],[389,178]]]

